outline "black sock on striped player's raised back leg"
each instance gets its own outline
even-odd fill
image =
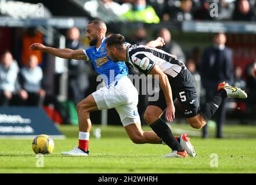
[[[204,117],[204,120],[207,122],[208,120],[210,120],[210,118],[212,117],[212,115],[216,112],[216,110],[219,108],[219,105],[221,105],[222,99],[226,98],[226,91],[221,89],[218,90],[214,97],[208,101],[205,106],[204,106],[204,110],[200,112],[201,116]]]

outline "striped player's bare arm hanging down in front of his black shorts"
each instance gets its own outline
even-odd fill
[[[175,119],[175,107],[172,101],[172,89],[168,77],[157,65],[154,65],[149,74],[153,76],[158,75],[159,77],[160,87],[164,92],[165,101],[167,103],[165,119],[172,122]]]

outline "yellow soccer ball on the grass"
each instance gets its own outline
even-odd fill
[[[51,154],[54,149],[53,139],[49,135],[38,135],[33,140],[32,149],[35,154]]]

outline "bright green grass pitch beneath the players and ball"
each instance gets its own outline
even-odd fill
[[[102,129],[102,138],[93,137],[93,129]],[[172,128],[200,131],[189,125]],[[149,127],[143,127],[150,130]],[[0,173],[255,173],[256,127],[225,126],[226,139],[201,139],[190,136],[198,157],[160,158],[170,152],[165,145],[136,145],[122,127],[93,125],[89,157],[61,156],[78,144],[78,128],[60,126],[67,139],[55,139],[55,150],[44,156],[44,168],[38,168],[31,148],[32,139],[0,140]],[[211,135],[213,128],[210,129]],[[176,130],[178,132],[178,130]],[[177,133],[176,133],[177,134]],[[212,161],[211,154],[218,158]],[[215,167],[211,167],[211,164]],[[218,166],[217,166],[218,164]]]

